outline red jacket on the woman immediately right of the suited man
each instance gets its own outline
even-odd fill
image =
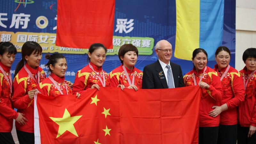
[[[198,84],[200,77],[204,72],[204,68],[200,71],[196,71],[195,68],[183,76],[185,86],[193,86],[195,74],[196,84]],[[209,112],[212,111],[212,106],[220,106],[222,99],[222,86],[220,77],[217,72],[212,68],[207,67],[202,78],[202,82],[210,85],[209,89],[202,89],[203,95],[201,96],[200,112],[199,112],[199,126],[200,127],[213,127],[219,126],[220,116],[212,117],[209,116]]]

